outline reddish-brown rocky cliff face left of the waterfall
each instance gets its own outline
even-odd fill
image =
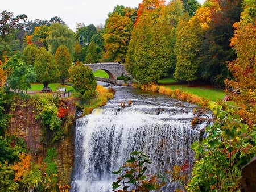
[[[41,119],[38,118],[38,108],[27,101],[17,101],[15,108],[9,111],[11,122],[5,135],[24,138],[33,161],[39,164],[46,157],[47,147],[55,147],[59,179],[63,183],[70,183],[73,167],[73,117],[75,117],[75,107],[72,99],[65,99],[63,102],[68,108],[69,116],[69,120],[63,123],[63,127],[65,127],[63,139],[55,141],[55,143],[45,142]]]

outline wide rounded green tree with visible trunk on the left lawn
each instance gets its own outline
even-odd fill
[[[57,69],[53,56],[43,47],[38,49],[35,58],[36,81],[48,87],[51,82],[57,82],[60,79],[60,72]]]

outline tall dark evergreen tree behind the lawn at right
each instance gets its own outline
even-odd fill
[[[240,19],[241,0],[209,1],[207,6],[211,16],[198,58],[200,78],[224,84],[224,79],[232,76],[226,62],[236,58],[229,43],[234,34],[232,25]]]

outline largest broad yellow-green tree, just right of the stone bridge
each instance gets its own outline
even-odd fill
[[[171,2],[144,11],[134,27],[126,57],[126,69],[139,82],[156,82],[174,69],[175,27],[182,4]]]

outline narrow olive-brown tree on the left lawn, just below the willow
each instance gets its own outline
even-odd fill
[[[72,65],[71,55],[65,45],[61,45],[57,48],[55,63],[60,72],[61,84],[64,85],[65,80],[69,77],[68,69]]]

